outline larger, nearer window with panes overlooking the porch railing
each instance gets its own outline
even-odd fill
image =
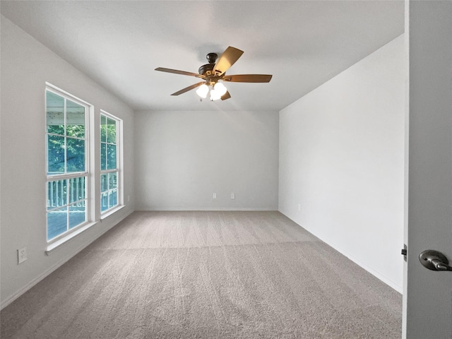
[[[47,241],[88,221],[89,105],[46,90]]]

